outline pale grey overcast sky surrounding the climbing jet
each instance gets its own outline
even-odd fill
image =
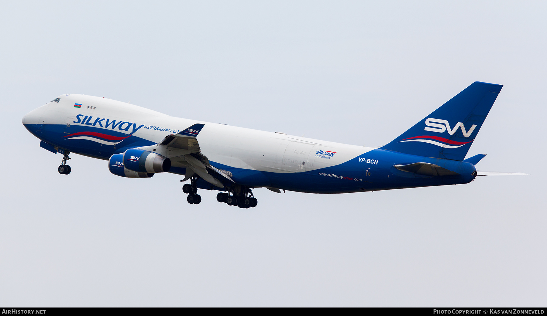
[[[0,3],[1,306],[545,306],[545,2]],[[380,146],[474,81],[468,156],[525,172],[258,206],[39,147],[61,93]]]

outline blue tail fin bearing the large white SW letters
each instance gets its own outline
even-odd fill
[[[476,81],[381,149],[463,160],[502,87]]]

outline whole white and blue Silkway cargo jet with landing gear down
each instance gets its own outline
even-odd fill
[[[198,189],[217,200],[257,206],[254,188],[275,192],[348,193],[464,184],[481,173],[485,155],[465,159],[502,85],[475,82],[391,143],[370,148],[175,118],[102,97],[66,94],[26,114],[23,124],[40,147],[63,155],[59,173],[71,173],[70,153],[108,160],[126,178],[171,172],[199,204]]]

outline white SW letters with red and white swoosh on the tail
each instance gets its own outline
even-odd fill
[[[469,131],[466,131],[465,126],[463,126],[462,122],[457,122],[454,128],[451,128],[450,123],[447,120],[432,119],[432,118],[428,118],[426,120],[426,125],[430,127],[424,127],[423,128],[424,131],[437,132],[437,133],[448,132],[450,135],[453,135],[454,133],[456,133],[456,131],[458,130],[458,127],[461,127],[463,137],[465,138],[471,136],[471,133],[473,133],[473,131],[475,130],[475,127],[477,127],[476,125],[472,125],[471,128],[469,128]],[[447,139],[444,137],[438,137],[438,136],[415,136],[415,137],[405,138],[399,143],[404,143],[404,142],[421,142],[421,143],[437,145],[443,148],[458,148],[458,147],[462,147],[465,144],[473,142],[473,140],[469,142],[456,142],[456,141],[451,141],[450,139]]]

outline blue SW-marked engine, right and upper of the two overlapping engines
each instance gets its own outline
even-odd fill
[[[168,172],[171,159],[142,149],[127,149],[124,153],[124,167],[136,172]]]

